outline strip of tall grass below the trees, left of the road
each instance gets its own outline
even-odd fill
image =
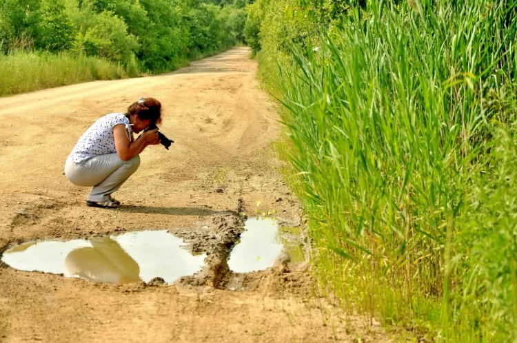
[[[123,79],[139,74],[103,59],[68,53],[11,52],[0,55],[0,96],[94,80]]]

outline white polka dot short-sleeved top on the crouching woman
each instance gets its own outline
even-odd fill
[[[81,163],[95,156],[116,153],[113,127],[129,123],[128,117],[123,113],[110,113],[97,119],[79,138],[68,159]]]

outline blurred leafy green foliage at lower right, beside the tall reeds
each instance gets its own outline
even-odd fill
[[[508,83],[505,83],[508,85]],[[509,83],[511,85],[511,83]],[[505,118],[491,121],[489,152],[469,180],[450,258],[443,335],[450,341],[514,342],[517,337],[517,101],[516,85],[500,99]],[[461,276],[460,281],[454,275]],[[460,287],[454,287],[455,283]]]

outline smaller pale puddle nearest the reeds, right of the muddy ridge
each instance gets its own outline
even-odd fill
[[[244,223],[241,240],[230,253],[228,267],[236,273],[261,271],[272,267],[282,249],[277,220],[250,218]]]

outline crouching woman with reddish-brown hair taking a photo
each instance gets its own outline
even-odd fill
[[[93,187],[86,205],[119,207],[120,202],[111,194],[138,169],[143,149],[160,143],[158,129],[143,132],[160,122],[161,103],[141,98],[128,107],[128,113],[107,114],[86,130],[65,163],[65,175],[71,183]],[[134,139],[133,132],[143,134]]]

